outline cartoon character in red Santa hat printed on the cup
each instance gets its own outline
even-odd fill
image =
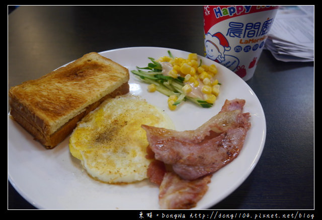
[[[239,64],[239,60],[235,56],[226,54],[226,51],[230,49],[229,42],[222,33],[210,34],[208,32],[205,35],[206,57],[234,71]]]

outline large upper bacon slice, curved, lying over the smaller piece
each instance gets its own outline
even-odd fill
[[[194,180],[235,159],[251,123],[245,100],[226,100],[221,111],[196,130],[175,131],[142,125],[156,160],[172,165],[181,178]]]

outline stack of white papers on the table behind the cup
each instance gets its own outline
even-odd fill
[[[314,6],[280,6],[265,48],[281,61],[314,61]]]

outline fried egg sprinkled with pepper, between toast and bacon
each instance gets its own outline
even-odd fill
[[[107,99],[77,123],[69,151],[96,180],[111,184],[144,180],[150,160],[145,158],[148,141],[141,124],[174,129],[164,111],[140,97]]]

